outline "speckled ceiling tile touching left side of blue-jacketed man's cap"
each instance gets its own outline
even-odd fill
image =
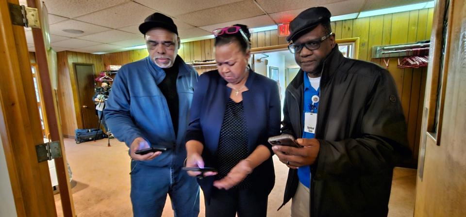
[[[88,23],[118,29],[121,27],[139,25],[155,11],[136,2],[128,2],[105,10],[76,17]]]

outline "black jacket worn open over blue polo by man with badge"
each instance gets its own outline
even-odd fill
[[[301,138],[303,71],[286,88],[282,133]],[[343,57],[336,45],[323,63],[311,166],[312,217],[387,216],[394,165],[409,156],[395,82],[380,66]],[[283,204],[295,194],[290,169]],[[283,206],[283,205],[282,205]]]

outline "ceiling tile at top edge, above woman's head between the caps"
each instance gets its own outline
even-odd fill
[[[176,18],[193,26],[207,26],[263,14],[264,12],[253,1],[244,0],[176,16]]]

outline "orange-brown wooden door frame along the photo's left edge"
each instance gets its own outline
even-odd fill
[[[36,154],[36,145],[44,140],[24,27],[12,25],[8,3],[17,5],[18,0],[0,1],[0,143],[4,150],[0,157],[6,160],[17,216],[56,217],[49,165],[47,161],[38,162]],[[36,5],[38,0],[28,0],[28,6]],[[41,17],[40,7],[38,13]],[[55,158],[55,166],[63,213],[71,217],[75,213],[65,171],[66,152],[57,127],[43,32],[41,29],[32,32],[50,137],[59,141],[62,148],[62,157]]]

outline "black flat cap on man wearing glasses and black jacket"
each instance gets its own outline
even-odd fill
[[[330,22],[331,16],[329,9],[325,7],[306,9],[290,22],[290,35],[286,37],[286,41],[290,42],[307,31],[312,31],[320,23]]]

